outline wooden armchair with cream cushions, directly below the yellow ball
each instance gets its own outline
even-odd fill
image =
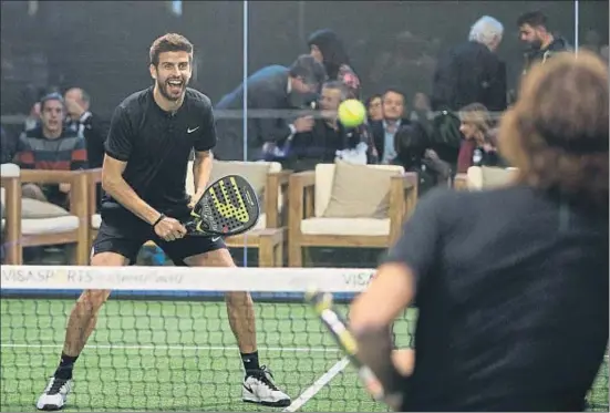
[[[369,168],[394,172],[389,177],[389,210],[385,218],[325,217],[331,200],[334,164],[319,164],[316,171],[290,176],[288,257],[290,267],[302,267],[303,247],[386,248],[400,234],[403,221],[417,203],[417,175],[404,173],[401,166],[368,165]],[[366,188],[353,183],[353,190]],[[381,200],[381,199],[380,199]]]

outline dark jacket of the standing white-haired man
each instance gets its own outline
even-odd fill
[[[443,53],[433,76],[432,110],[458,111],[482,103],[506,110],[506,64],[486,45],[466,42]]]

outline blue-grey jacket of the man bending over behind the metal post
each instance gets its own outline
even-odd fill
[[[263,68],[247,80],[249,110],[291,109],[288,94],[288,69],[280,65]],[[216,132],[218,144],[214,149],[225,161],[244,159],[244,121],[240,116],[223,118],[221,110],[241,111],[244,107],[244,84],[223,96],[216,104]],[[289,120],[282,117],[256,117],[248,115],[248,156],[250,161],[262,158],[266,142],[281,143],[290,135]]]

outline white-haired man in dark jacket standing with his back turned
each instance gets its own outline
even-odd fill
[[[495,53],[504,34],[503,24],[489,16],[478,19],[468,41],[441,54],[432,82],[432,110],[458,111],[480,103],[492,112],[506,110],[506,64]],[[459,122],[441,113],[434,121],[446,136],[433,136],[441,158],[454,165],[459,151]],[[441,133],[441,132],[438,132]]]

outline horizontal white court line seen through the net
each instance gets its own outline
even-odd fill
[[[63,344],[15,344],[15,343],[0,343],[0,348],[8,349],[60,349]],[[184,351],[223,351],[223,350],[238,350],[236,345],[223,347],[223,345],[165,345],[165,344],[155,344],[155,345],[125,345],[125,344],[90,344],[86,345],[87,349],[100,349],[100,350],[184,350]],[[298,353],[337,353],[340,351],[338,348],[329,347],[261,347],[261,351],[287,351],[287,352],[298,352]]]

